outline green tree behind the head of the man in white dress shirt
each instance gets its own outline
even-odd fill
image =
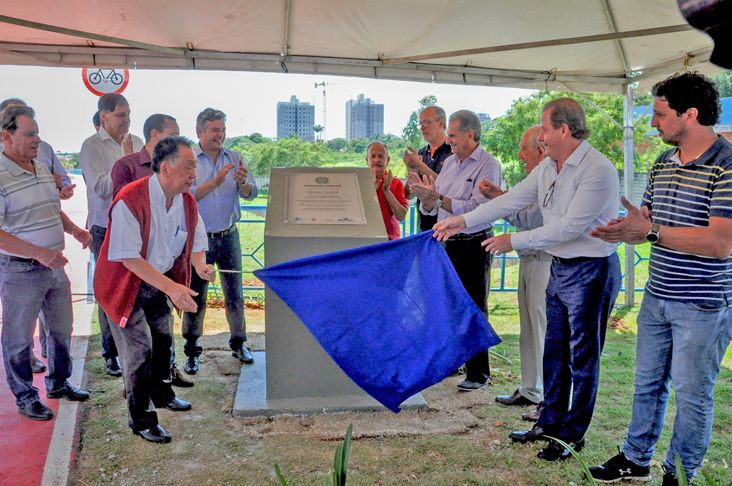
[[[621,96],[598,93],[578,96],[576,93],[540,92],[514,101],[504,116],[490,121],[488,130],[481,137],[486,150],[501,161],[504,180],[510,186],[525,176],[523,164],[517,155],[518,144],[524,130],[539,123],[544,104],[554,98],[565,96],[576,99],[583,106],[587,125],[591,129],[589,142],[610,159],[618,170],[623,170]],[[663,146],[663,142],[652,133],[648,121],[648,117],[645,116],[635,123],[636,172],[646,172]]]

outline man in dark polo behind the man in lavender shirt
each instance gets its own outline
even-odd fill
[[[427,145],[422,147],[419,152],[412,147],[407,148],[407,151],[404,152],[404,164],[409,170],[416,171],[420,177],[429,175],[436,179],[445,159],[452,155],[445,135],[445,118],[445,110],[439,106],[428,106],[419,114],[419,130]],[[407,198],[412,197],[408,183],[405,193]],[[419,202],[417,205],[419,206]],[[417,211],[417,214],[419,215],[420,231],[432,229],[437,222],[437,215],[422,214],[420,211]]]

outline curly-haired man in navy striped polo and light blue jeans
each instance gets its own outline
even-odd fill
[[[627,217],[593,232],[608,242],[651,243],[633,416],[622,451],[591,468],[603,482],[650,479],[671,377],[676,419],[663,484],[677,484],[677,454],[694,477],[709,446],[714,381],[732,333],[732,144],[714,132],[719,94],[689,72],[652,92],[651,125],[674,148],[653,165],[642,208],[623,199]]]

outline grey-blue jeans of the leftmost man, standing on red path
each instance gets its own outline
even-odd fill
[[[71,376],[71,284],[63,268],[51,270],[36,260],[0,256],[2,346],[10,391],[19,407],[38,400],[31,353],[38,312],[48,326],[46,389],[62,387]]]

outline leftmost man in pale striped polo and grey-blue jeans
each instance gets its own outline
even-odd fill
[[[31,352],[38,312],[48,317],[46,396],[86,400],[89,392],[68,382],[72,362],[71,286],[64,272],[64,232],[85,248],[91,234],[61,211],[53,175],[38,162],[38,125],[27,106],[0,113],[0,300],[5,374],[18,413],[50,420],[53,411],[33,386]]]

